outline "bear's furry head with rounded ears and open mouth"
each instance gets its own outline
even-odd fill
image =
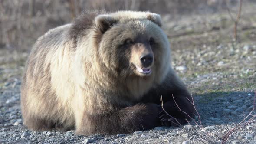
[[[98,57],[119,79],[137,77],[160,83],[170,69],[170,47],[161,17],[119,11],[95,17]]]

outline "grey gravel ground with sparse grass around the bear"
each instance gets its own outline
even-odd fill
[[[233,25],[228,16],[217,13],[178,20],[164,17],[172,43],[173,65],[194,96],[202,122],[199,125],[191,122],[191,125],[156,127],[131,134],[91,136],[75,135],[74,130],[30,131],[23,126],[20,111],[20,80],[28,52],[0,48],[0,143],[221,143],[221,138],[253,110],[256,90],[254,9],[248,8],[243,13],[236,43],[230,40]],[[234,131],[227,143],[256,144],[256,124]]]

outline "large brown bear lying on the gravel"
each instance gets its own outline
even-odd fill
[[[164,109],[184,124],[194,108],[171,67],[161,25],[150,12],[92,12],[49,30],[26,63],[24,124],[39,131],[75,128],[82,135],[151,129],[169,118],[161,113],[160,96]]]

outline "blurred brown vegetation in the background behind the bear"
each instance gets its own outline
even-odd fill
[[[227,7],[235,13],[238,5],[239,0],[0,0],[0,48],[30,49],[43,33],[70,23],[83,10],[151,11],[170,21]]]

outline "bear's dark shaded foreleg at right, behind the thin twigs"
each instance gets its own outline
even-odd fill
[[[144,95],[142,101],[161,105],[161,98],[164,108],[164,110],[162,109],[160,111],[162,124],[167,126],[185,124],[187,121],[190,121],[190,117],[194,117],[194,106],[190,103],[190,101],[192,101],[191,94],[184,83],[182,83],[175,74],[170,73],[161,85],[151,89],[148,94]],[[167,114],[164,111],[166,111]],[[174,118],[176,118],[178,122]]]

